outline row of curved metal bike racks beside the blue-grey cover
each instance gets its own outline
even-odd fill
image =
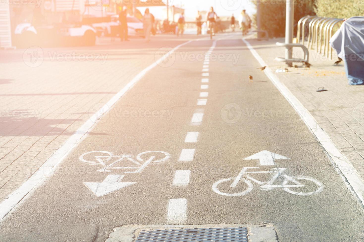
[[[314,49],[318,53],[324,54],[332,60],[332,48],[329,41],[333,34],[333,29],[336,25],[340,25],[344,19],[332,19],[317,16],[302,17],[297,23],[297,43],[304,45],[307,37],[307,48]],[[302,34],[301,34],[302,33]],[[302,40],[301,40],[302,36]]]

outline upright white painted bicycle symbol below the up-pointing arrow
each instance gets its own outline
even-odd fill
[[[253,185],[252,181],[255,182],[256,184],[258,184],[258,187],[264,191],[282,188],[286,192],[289,192],[289,193],[292,193],[295,195],[300,195],[300,196],[317,194],[317,193],[322,192],[324,189],[324,185],[320,181],[317,181],[317,180],[313,179],[312,177],[286,175],[285,171],[287,168],[273,168],[270,171],[249,171],[250,169],[259,169],[259,167],[244,167],[237,177],[229,177],[229,178],[222,179],[222,180],[215,182],[212,185],[212,190],[214,192],[216,192],[220,195],[224,195],[224,196],[232,196],[232,197],[243,196],[253,190],[254,185]],[[268,181],[259,181],[257,179],[254,179],[250,175],[248,175],[248,174],[258,174],[258,173],[271,173],[273,176]],[[280,185],[273,185],[274,182],[278,179],[278,177],[283,177],[283,182]],[[226,188],[226,186],[227,186],[226,183],[230,183],[230,182],[232,182],[230,185],[230,188]],[[228,193],[228,192],[222,191],[224,189],[224,188],[222,188],[222,186],[223,186],[222,184],[226,184],[225,190],[231,190],[233,188],[236,188],[239,182],[245,182],[245,184],[244,184],[245,188],[246,188],[246,186],[248,186],[248,187],[246,189],[244,188],[245,190],[240,189],[236,193]],[[313,190],[311,192],[303,191],[304,186],[306,186],[305,185],[306,182],[309,182],[309,184],[311,185],[310,188],[312,187],[312,184],[314,184],[314,186],[316,186],[316,188],[313,188],[313,189],[315,189],[315,190]],[[241,186],[239,185],[239,187],[241,187]]]

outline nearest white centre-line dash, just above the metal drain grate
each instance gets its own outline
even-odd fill
[[[183,224],[187,220],[187,199],[170,199],[168,203],[167,223]]]

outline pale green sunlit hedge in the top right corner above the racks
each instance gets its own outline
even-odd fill
[[[364,0],[317,0],[317,16],[349,18],[364,15]]]

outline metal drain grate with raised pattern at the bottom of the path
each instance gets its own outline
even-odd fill
[[[136,242],[248,241],[245,227],[141,230]]]

